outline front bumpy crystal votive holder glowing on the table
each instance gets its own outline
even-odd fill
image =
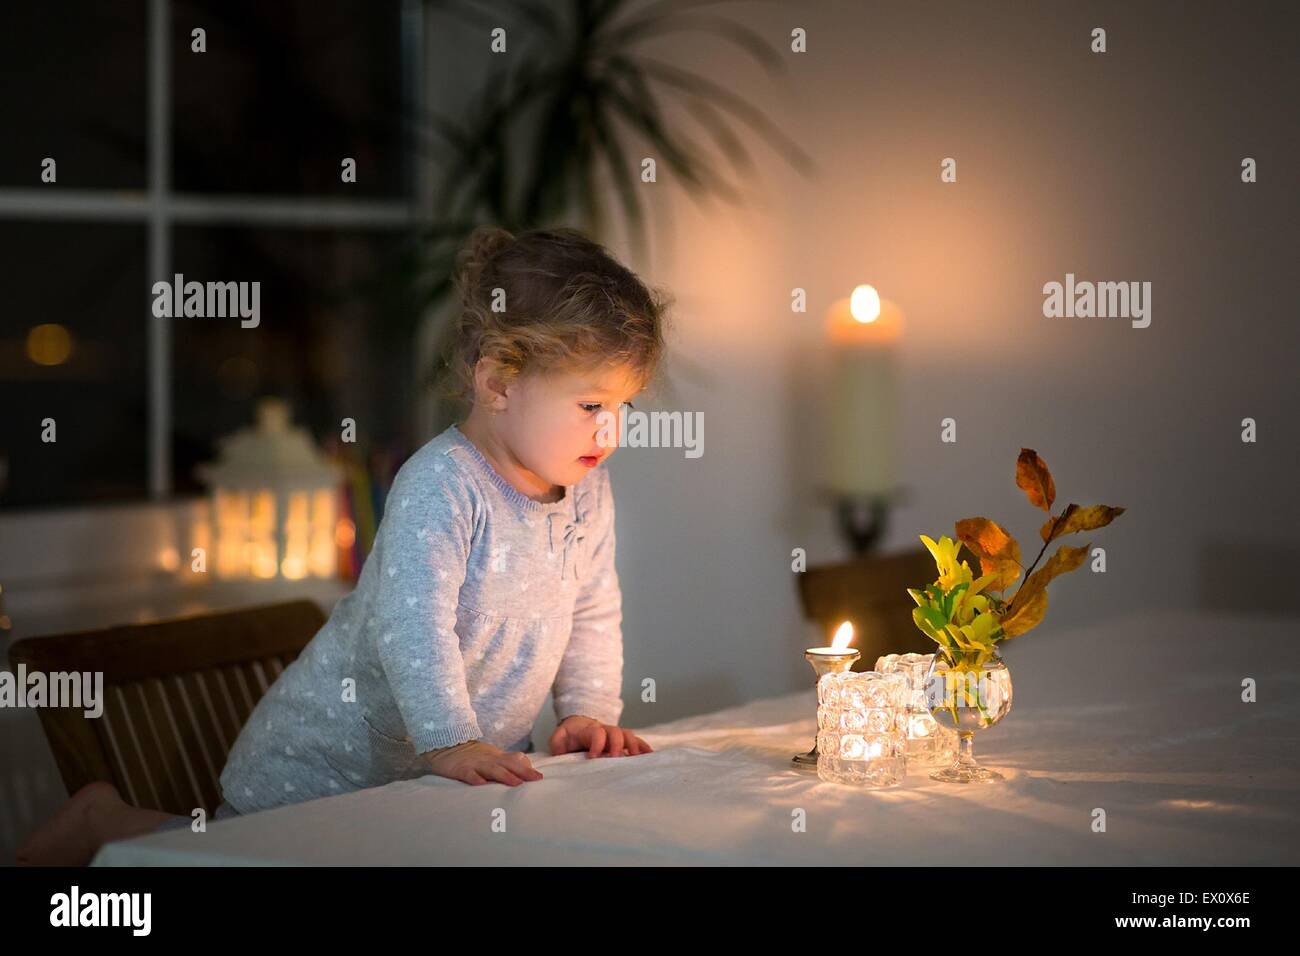
[[[907,692],[901,674],[824,674],[816,684],[816,775],[859,787],[901,783],[907,765],[900,719]]]

